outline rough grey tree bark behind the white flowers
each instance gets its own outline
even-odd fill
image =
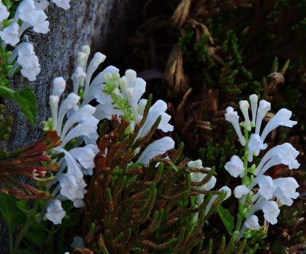
[[[84,44],[91,52],[103,52],[116,59],[121,52],[121,39],[137,18],[139,0],[72,0],[67,11],[50,4],[46,11],[50,32],[46,35],[28,32],[23,41],[34,44],[41,64],[37,81],[29,82],[16,74],[11,84],[14,89],[31,86],[37,95],[38,118],[32,126],[20,112],[18,106],[6,101],[6,113],[12,115],[14,123],[9,142],[2,144],[11,150],[24,146],[41,136],[41,121],[49,117],[48,97],[54,78],[67,80],[76,66],[76,55]],[[71,82],[68,81],[68,84]],[[0,218],[1,220],[1,218]],[[8,253],[8,235],[0,221],[0,253]]]

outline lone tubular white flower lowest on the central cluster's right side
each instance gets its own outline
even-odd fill
[[[166,153],[174,148],[174,141],[170,137],[164,137],[149,144],[139,156],[137,162],[148,164],[154,157]]]

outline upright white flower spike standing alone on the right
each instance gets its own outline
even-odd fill
[[[264,218],[271,224],[277,223],[277,216],[279,209],[277,202],[271,200],[276,197],[283,205],[291,206],[293,203],[292,198],[298,197],[296,188],[299,187],[296,180],[293,177],[285,177],[272,179],[270,176],[264,175],[264,173],[271,167],[279,164],[289,166],[289,169],[298,168],[299,163],[296,160],[299,152],[289,143],[277,145],[271,148],[262,158],[261,162],[250,169],[247,168],[248,162],[252,162],[253,156],[258,156],[261,150],[267,148],[265,139],[267,135],[277,128],[278,126],[292,127],[297,122],[290,120],[292,112],[287,109],[279,110],[266,124],[265,128],[261,132],[262,121],[270,110],[271,105],[266,100],[261,100],[258,106],[258,96],[250,95],[251,115],[252,120],[249,119],[249,103],[247,100],[241,100],[239,105],[244,116],[245,121],[239,123],[239,116],[237,111],[234,111],[232,107],[228,107],[225,113],[225,119],[231,122],[239,137],[240,143],[245,146],[245,157],[241,160],[238,156],[233,156],[231,161],[225,164],[225,169],[234,177],[242,177],[242,185],[237,186],[234,190],[234,195],[237,198],[241,198],[240,202],[244,203],[247,197],[250,197],[253,202],[253,206],[249,208],[247,214],[245,214],[245,222],[243,224],[240,237],[242,236],[245,228],[251,230],[259,230],[260,225],[258,217],[254,213],[258,210],[264,212]],[[245,136],[242,135],[240,126],[243,126]],[[248,132],[252,128],[255,128],[254,133],[248,136]],[[252,173],[252,176],[248,179],[247,173]],[[256,177],[253,177],[256,176]],[[253,195],[252,189],[258,185],[259,190]],[[248,196],[250,195],[250,196]]]

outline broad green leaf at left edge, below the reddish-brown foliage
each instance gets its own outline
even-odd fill
[[[9,228],[22,226],[27,220],[27,216],[17,208],[17,201],[12,195],[0,193],[0,213]]]

